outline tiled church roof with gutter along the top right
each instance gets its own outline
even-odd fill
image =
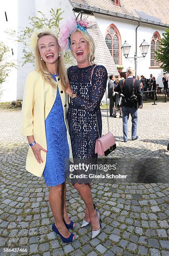
[[[169,25],[169,0],[120,0],[120,6],[114,5],[112,0],[70,0],[75,7],[95,10],[96,13],[111,13],[121,18],[130,18],[159,26]]]

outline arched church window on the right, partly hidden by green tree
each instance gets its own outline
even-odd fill
[[[159,39],[160,34],[159,32],[154,32],[152,41],[151,41],[151,59],[150,59],[150,66],[151,67],[159,67],[159,61],[155,59],[155,51],[159,49]]]

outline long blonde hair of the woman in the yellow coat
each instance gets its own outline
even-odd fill
[[[48,31],[39,33],[37,35],[37,37],[38,37],[37,43],[38,43],[38,40],[42,36],[52,36],[53,38],[55,38],[56,43],[57,43],[57,47],[58,47],[59,51],[61,52],[60,46],[57,42],[57,37],[55,35],[53,35],[52,33],[48,32]],[[53,79],[49,70],[47,69],[45,61],[40,59],[40,51],[38,49],[37,44],[36,44],[36,48],[35,48],[35,62],[36,62],[36,69],[37,69],[38,72],[40,72],[40,74],[42,74],[42,77],[45,80],[45,82],[47,84],[50,84],[52,87],[54,87],[56,89],[57,88],[56,82]],[[59,73],[59,76],[60,76],[60,81],[61,81],[63,90],[65,91],[67,89],[68,78],[67,78],[67,72],[66,72],[66,69],[65,69],[65,62],[64,62],[62,53],[61,53],[61,56],[58,59],[58,73]]]

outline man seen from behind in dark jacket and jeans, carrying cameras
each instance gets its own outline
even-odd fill
[[[124,95],[124,101],[122,102],[122,113],[123,113],[123,138],[124,142],[128,140],[128,120],[129,114],[132,117],[132,141],[139,138],[137,136],[137,109],[142,105],[141,87],[140,80],[135,80],[133,69],[128,69],[125,80],[121,80],[119,85],[115,88],[116,92],[122,92]],[[134,88],[133,88],[134,87]],[[138,102],[133,103],[131,100],[132,95],[136,95]]]

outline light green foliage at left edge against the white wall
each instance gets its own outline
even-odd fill
[[[0,41],[0,85],[5,82],[11,68],[17,67],[14,62],[10,61],[9,52],[9,47]]]

